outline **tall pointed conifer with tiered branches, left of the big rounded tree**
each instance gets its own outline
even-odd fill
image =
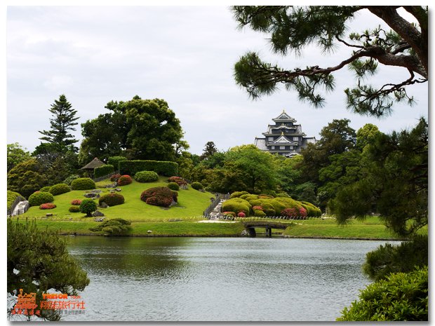
[[[49,144],[53,144],[57,147],[58,151],[63,152],[68,149],[76,151],[74,144],[78,142],[69,132],[76,130],[74,125],[79,119],[76,116],[77,111],[72,109],[72,105],[67,101],[65,95],[60,95],[59,100],[55,100],[54,104],[51,104],[51,108],[48,109],[51,112],[52,118],[50,119],[50,130],[39,131],[44,137],[39,138],[45,140]]]

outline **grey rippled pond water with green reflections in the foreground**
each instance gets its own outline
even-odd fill
[[[70,238],[91,283],[62,320],[333,321],[369,280],[384,241]]]

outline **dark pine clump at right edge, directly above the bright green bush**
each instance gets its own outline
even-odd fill
[[[408,273],[415,266],[427,266],[429,257],[427,236],[415,236],[400,245],[381,245],[377,250],[368,252],[363,271],[372,280],[386,278],[389,273]]]

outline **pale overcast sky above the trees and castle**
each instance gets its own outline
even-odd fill
[[[360,13],[349,31],[380,24]],[[248,50],[260,52],[288,69],[328,67],[344,60],[348,49],[321,55],[314,47],[301,57],[270,53],[266,34],[239,30],[227,6],[9,6],[7,9],[7,142],[33,151],[38,130],[48,130],[48,111],[65,94],[79,123],[107,112],[111,100],[161,98],[180,118],[190,151],[201,154],[208,141],[220,150],[252,144],[283,109],[319,139],[335,118],[349,118],[358,130],[366,123],[384,133],[411,128],[428,114],[427,83],[409,88],[415,106],[395,105],[382,120],[352,114],[344,88],[355,84],[346,69],[336,74],[336,89],[326,106],[314,109],[295,93],[280,90],[252,101],[236,86],[234,63]],[[373,84],[407,78],[401,68],[384,68]],[[80,126],[74,135],[81,140]]]

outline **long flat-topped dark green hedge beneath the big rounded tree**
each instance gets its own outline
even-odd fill
[[[178,175],[178,164],[168,161],[119,161],[119,171],[123,175],[135,175],[140,171],[154,171],[170,177]]]

